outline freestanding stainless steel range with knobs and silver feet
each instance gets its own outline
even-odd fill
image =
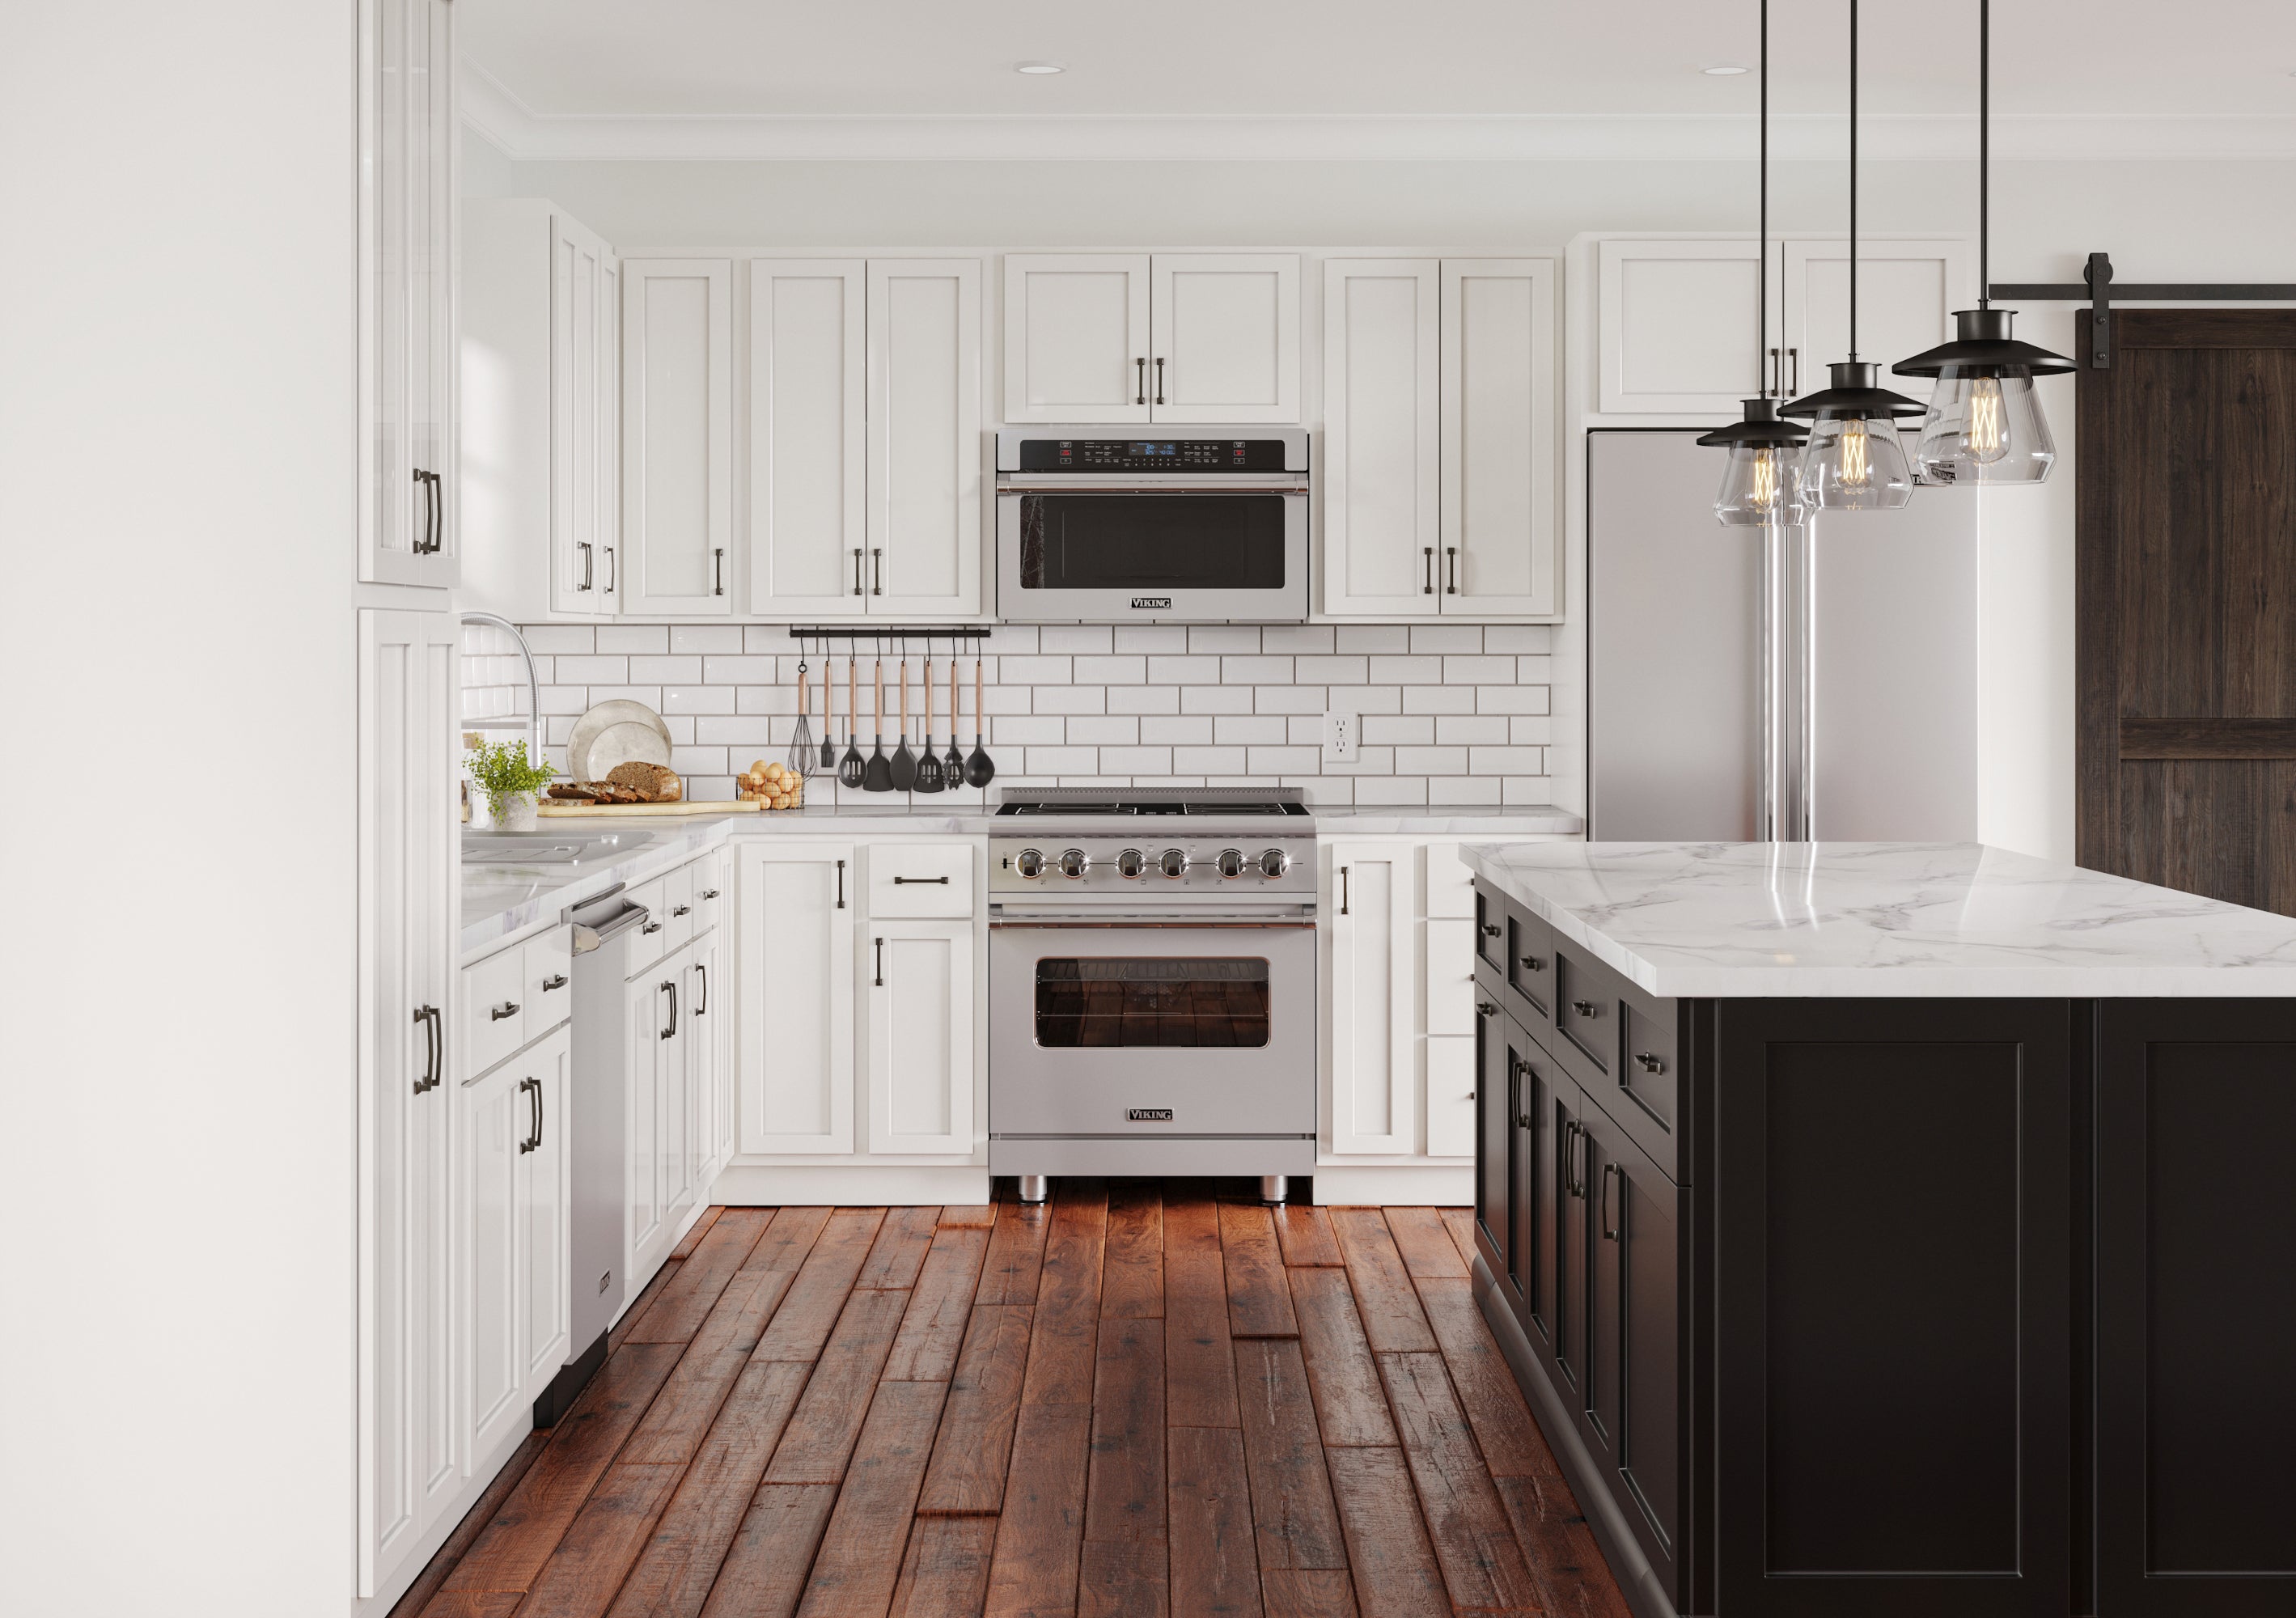
[[[990,1173],[1316,1166],[1316,822],[1297,787],[1015,794],[990,838]]]

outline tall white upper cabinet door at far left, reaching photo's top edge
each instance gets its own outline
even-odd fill
[[[457,581],[455,11],[360,5],[358,576]]]

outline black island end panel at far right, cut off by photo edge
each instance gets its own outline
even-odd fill
[[[2296,1005],[2108,1001],[2099,1618],[2296,1613]]]

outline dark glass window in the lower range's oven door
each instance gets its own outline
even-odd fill
[[[1265,1047],[1267,962],[1040,959],[1035,1042],[1049,1049]]]

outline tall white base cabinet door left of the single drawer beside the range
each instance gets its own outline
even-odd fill
[[[854,1150],[852,842],[735,849],[744,1152]]]

